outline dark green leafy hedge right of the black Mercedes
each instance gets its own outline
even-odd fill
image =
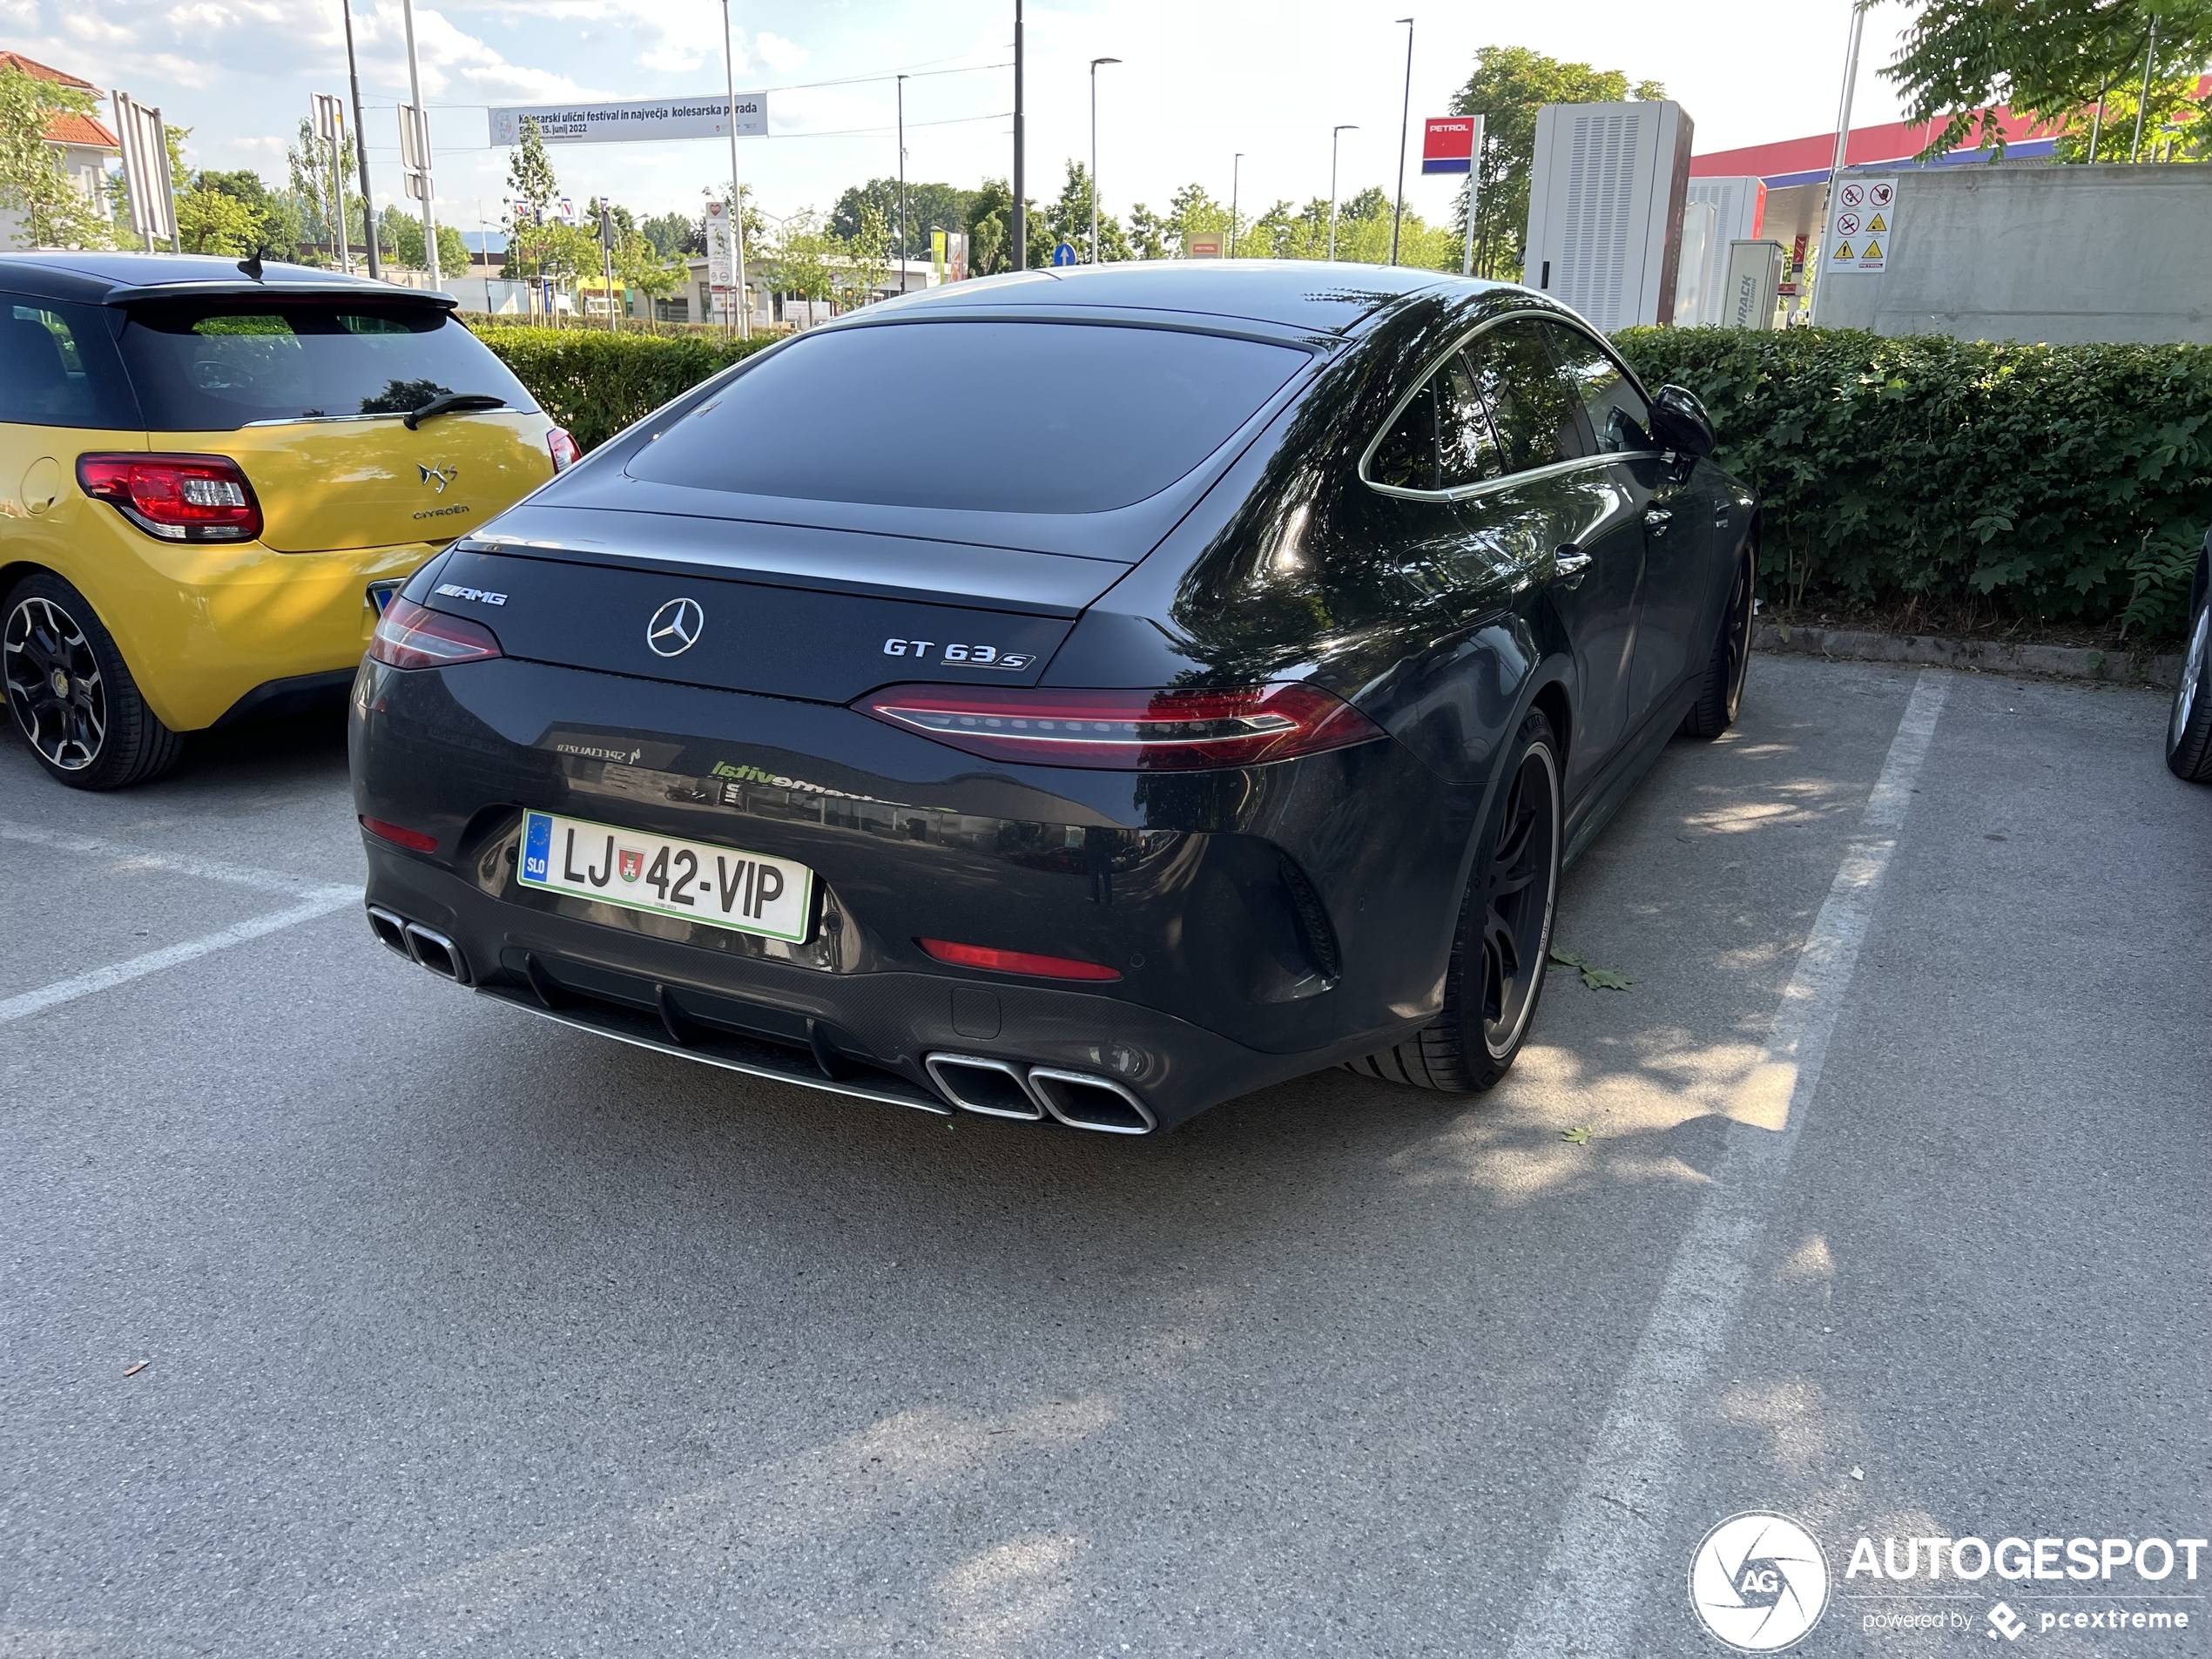
[[[1856,330],[1626,330],[1697,392],[1765,498],[1763,588],[1790,604],[2172,635],[2212,520],[2212,349],[2008,345]]]

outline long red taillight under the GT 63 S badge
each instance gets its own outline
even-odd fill
[[[1259,765],[1383,737],[1383,728],[1352,703],[1294,684],[1234,690],[891,686],[854,708],[993,761],[1102,772]]]

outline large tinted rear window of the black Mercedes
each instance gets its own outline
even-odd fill
[[[1307,361],[1091,323],[883,323],[792,341],[628,471],[878,507],[1102,513],[1197,467]]]

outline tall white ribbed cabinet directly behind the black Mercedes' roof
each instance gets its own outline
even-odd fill
[[[1540,108],[1522,281],[1601,330],[1672,323],[1690,128],[1672,102]]]

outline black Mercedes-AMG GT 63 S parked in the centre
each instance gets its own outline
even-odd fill
[[[1542,294],[1170,263],[869,305],[392,599],[378,938],[622,1042],[1137,1135],[1478,1091],[1562,865],[1719,734],[1759,502]]]

